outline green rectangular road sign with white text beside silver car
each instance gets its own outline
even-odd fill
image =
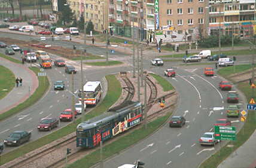
[[[236,140],[236,127],[214,126],[214,135],[217,140]]]

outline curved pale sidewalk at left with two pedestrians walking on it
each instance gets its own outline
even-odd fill
[[[32,95],[36,88],[38,87],[38,79],[33,71],[29,69],[26,64],[22,65],[20,63],[13,63],[10,60],[0,57],[0,65],[5,66],[13,72],[15,77],[22,78],[22,86],[14,87],[10,93],[7,94],[0,101],[0,114],[16,107],[20,103],[25,102],[29,97],[29,87],[30,95]]]

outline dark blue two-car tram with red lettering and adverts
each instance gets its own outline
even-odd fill
[[[77,147],[91,148],[141,123],[141,102],[127,102],[77,126]]]

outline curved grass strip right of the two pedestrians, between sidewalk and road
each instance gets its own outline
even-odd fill
[[[30,68],[33,72],[35,72],[35,74],[37,75],[39,71],[39,68],[36,67],[32,67]],[[43,77],[38,77],[38,80],[43,80]],[[35,93],[33,93],[30,97],[30,99],[27,99],[25,102],[20,103],[19,105],[17,105],[15,108],[10,109],[7,112],[4,112],[3,114],[0,114],[0,121],[4,120],[7,117],[10,117],[13,114],[16,114],[19,111],[22,111],[23,109],[27,108],[28,106],[32,105],[33,103],[35,103],[38,99],[40,99],[45,91],[47,90],[49,85],[49,81],[47,78],[45,78],[45,85],[39,85],[38,88],[36,88]]]

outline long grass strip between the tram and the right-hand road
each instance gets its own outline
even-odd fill
[[[148,123],[147,130],[145,129],[145,127],[141,127],[140,129],[135,130],[134,132],[131,132],[126,136],[123,136],[122,138],[115,140],[111,144],[103,146],[103,159],[109,158],[114,154],[118,154],[119,152],[123,151],[129,146],[139,142],[139,140],[142,140],[145,137],[149,136],[156,129],[158,129],[170,117],[171,114],[172,113],[169,112],[163,117],[151,121],[151,123]],[[99,163],[99,161],[100,150],[97,149],[95,152],[92,152],[92,154],[86,155],[85,157],[81,158],[75,163],[70,164],[68,167],[91,167]]]

